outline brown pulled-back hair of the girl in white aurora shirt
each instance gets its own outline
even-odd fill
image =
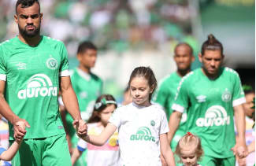
[[[149,98],[149,101],[150,101],[152,98],[152,94],[154,93],[154,90],[158,87],[158,81],[154,77],[154,72],[152,71],[152,69],[150,67],[141,66],[141,67],[135,68],[132,71],[132,74],[129,79],[129,83],[128,83],[129,87],[131,86],[131,82],[134,77],[144,77],[145,79],[147,79],[147,82],[148,82],[150,88],[153,87],[153,91],[152,91],[152,93],[150,93],[150,98]]]

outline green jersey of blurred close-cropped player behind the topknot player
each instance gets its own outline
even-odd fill
[[[166,76],[164,79],[161,79],[158,90],[156,90],[156,93],[154,94],[153,101],[165,108],[167,120],[169,120],[169,117],[173,113],[172,105],[176,96],[177,87],[179,86],[181,79],[182,77],[180,77],[177,72],[173,72],[169,76]],[[184,113],[182,115],[182,119],[180,120],[180,125],[173,137],[173,142],[171,143],[173,151],[176,149],[177,142],[179,142],[180,138],[186,132],[186,120],[187,113]]]

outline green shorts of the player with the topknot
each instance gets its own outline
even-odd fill
[[[234,166],[236,165],[236,158],[215,158],[204,156],[202,157],[202,161],[199,162],[199,164],[201,164],[202,166]]]

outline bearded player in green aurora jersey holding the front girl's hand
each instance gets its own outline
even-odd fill
[[[0,113],[9,120],[11,144],[24,136],[12,160],[15,166],[71,165],[58,112],[59,89],[66,109],[79,121],[77,134],[87,134],[69,77],[68,53],[63,42],[40,35],[42,19],[37,0],[18,0],[14,20],[19,34],[0,45]]]

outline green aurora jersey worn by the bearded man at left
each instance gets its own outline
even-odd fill
[[[59,77],[69,76],[68,53],[62,42],[42,36],[38,46],[18,37],[0,45],[0,79],[6,81],[5,98],[30,128],[24,138],[64,134],[58,112]],[[9,124],[13,139],[13,126]]]

